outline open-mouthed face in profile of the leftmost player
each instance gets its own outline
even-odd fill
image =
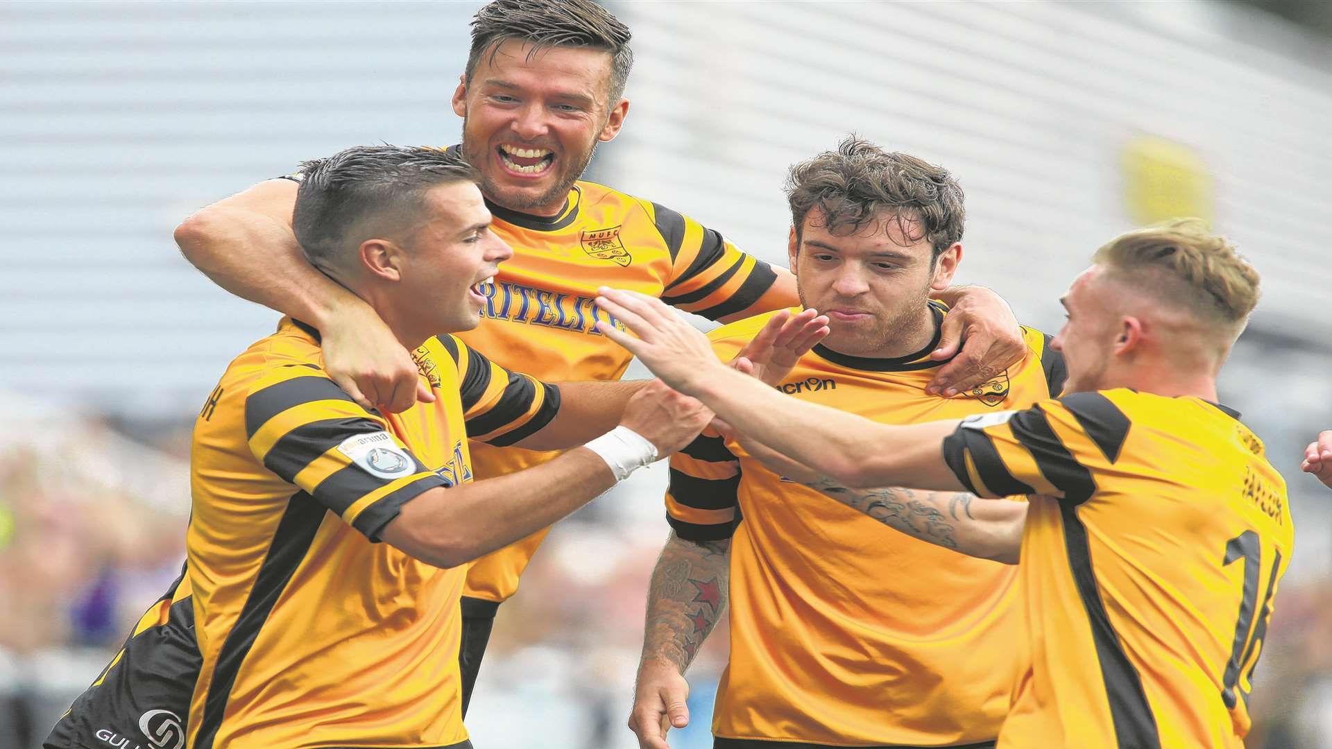
[[[481,323],[485,297],[513,249],[490,231],[490,212],[472,183],[432,188],[424,220],[405,233],[401,281],[394,289],[398,317],[421,340],[437,333],[470,331]]]

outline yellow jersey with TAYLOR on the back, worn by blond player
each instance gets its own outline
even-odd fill
[[[1030,668],[1000,746],[1243,746],[1295,536],[1285,482],[1237,417],[1115,389],[976,416],[946,440],[975,493],[1031,494]]]

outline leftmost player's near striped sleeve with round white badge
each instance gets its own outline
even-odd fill
[[[390,430],[322,373],[261,381],[245,398],[254,458],[372,541],[417,494],[444,486]]]

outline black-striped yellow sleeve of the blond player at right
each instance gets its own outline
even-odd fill
[[[943,457],[976,496],[1044,494],[1078,505],[1112,470],[1128,430],[1128,417],[1104,393],[1074,393],[971,416],[944,440]]]

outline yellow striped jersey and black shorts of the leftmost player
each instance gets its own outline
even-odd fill
[[[458,678],[465,568],[421,562],[380,533],[422,492],[472,481],[469,433],[521,440],[550,421],[559,392],[452,336],[414,356],[437,400],[400,414],[344,393],[298,323],[232,361],[194,424],[185,577],[89,694],[168,653],[139,638],[189,601],[197,660],[176,685],[188,696],[184,746],[470,746]]]

